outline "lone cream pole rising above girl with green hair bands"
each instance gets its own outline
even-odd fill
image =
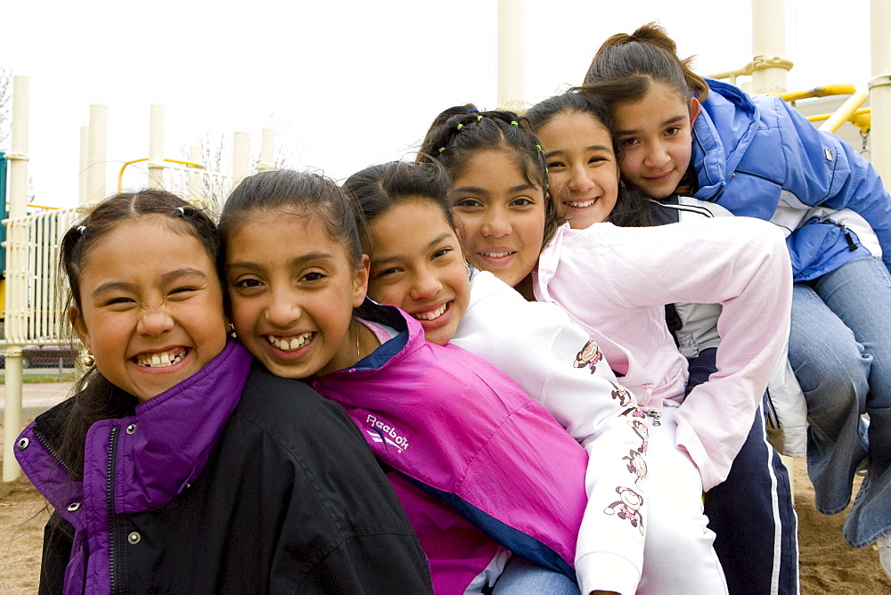
[[[498,105],[509,110],[523,107],[524,10],[523,0],[498,0]]]

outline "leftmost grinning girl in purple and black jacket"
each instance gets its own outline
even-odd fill
[[[67,232],[90,364],[15,454],[55,509],[41,592],[429,592],[353,423],[226,337],[210,219],[161,191]]]

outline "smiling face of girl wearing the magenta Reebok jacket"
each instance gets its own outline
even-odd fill
[[[315,215],[254,212],[227,244],[225,273],[238,338],[275,376],[304,379],[356,363],[347,332],[362,304],[356,270]]]

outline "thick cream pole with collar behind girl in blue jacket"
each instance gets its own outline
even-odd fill
[[[752,0],[752,53],[756,66],[752,72],[752,92],[785,93],[786,71],[791,67],[789,60],[784,57],[785,0]]]

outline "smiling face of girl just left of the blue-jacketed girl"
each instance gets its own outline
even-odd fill
[[[616,206],[619,170],[612,138],[590,114],[557,114],[537,131],[548,165],[551,195],[569,225],[601,223]]]

